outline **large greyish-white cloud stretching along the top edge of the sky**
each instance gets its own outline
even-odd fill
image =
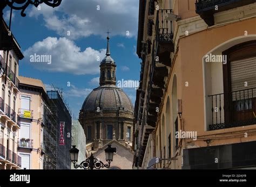
[[[28,15],[36,18],[43,15],[46,27],[64,37],[70,31],[70,39],[92,34],[106,37],[107,29],[111,36],[134,37],[137,35],[138,5],[138,0],[122,0],[122,3],[120,0],[63,0],[58,8],[42,5],[41,10],[30,9]]]

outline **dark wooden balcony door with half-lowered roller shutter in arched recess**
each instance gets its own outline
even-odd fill
[[[256,118],[256,40],[233,46],[224,52],[225,122],[254,124]],[[238,125],[240,126],[240,125]]]

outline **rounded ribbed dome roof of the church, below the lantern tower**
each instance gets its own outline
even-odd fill
[[[82,110],[95,112],[97,107],[104,111],[117,111],[122,109],[133,112],[133,105],[126,93],[115,85],[102,85],[86,97]]]

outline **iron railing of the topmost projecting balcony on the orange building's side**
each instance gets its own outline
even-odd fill
[[[173,42],[173,23],[165,19],[167,14],[172,12],[172,9],[157,11],[156,40],[159,42]]]

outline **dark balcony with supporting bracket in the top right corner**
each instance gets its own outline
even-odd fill
[[[247,4],[255,3],[255,0],[197,0],[196,12],[209,26],[214,25],[214,13],[238,8]],[[218,6],[218,10],[215,10]]]

